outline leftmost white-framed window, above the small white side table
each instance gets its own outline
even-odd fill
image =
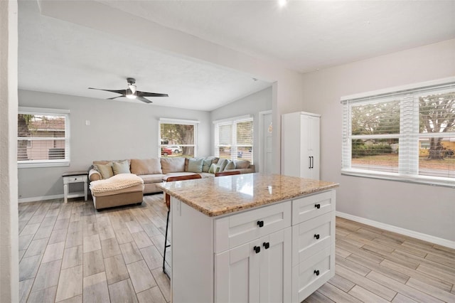
[[[19,107],[18,167],[70,165],[70,111]]]

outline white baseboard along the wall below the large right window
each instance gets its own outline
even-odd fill
[[[401,235],[407,235],[409,237],[416,238],[416,239],[419,239],[419,240],[424,240],[424,241],[427,241],[429,243],[442,245],[442,246],[445,246],[446,248],[454,248],[455,249],[455,241],[434,237],[433,235],[427,235],[425,233],[419,233],[419,232],[414,231],[414,230],[400,228],[400,227],[397,227],[397,226],[394,226],[394,225],[380,223],[380,222],[375,221],[375,220],[370,220],[370,219],[366,219],[366,218],[362,218],[362,217],[358,217],[358,216],[353,216],[353,215],[350,215],[348,213],[341,213],[339,211],[336,212],[336,216],[338,216],[340,218],[345,218],[345,219],[348,219],[348,220],[353,220],[353,221],[358,222],[358,223],[363,223],[363,224],[366,224],[366,225],[370,225],[370,226],[373,226],[375,228],[381,228],[383,230],[392,231],[393,233],[400,233]]]

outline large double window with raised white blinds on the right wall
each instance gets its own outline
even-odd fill
[[[454,80],[342,98],[342,174],[455,186]]]

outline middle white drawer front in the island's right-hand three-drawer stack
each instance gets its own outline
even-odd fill
[[[292,226],[292,266],[308,259],[333,243],[335,237],[334,213],[307,220]]]

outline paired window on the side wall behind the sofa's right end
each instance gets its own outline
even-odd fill
[[[215,156],[253,163],[253,118],[235,117],[215,124]]]

